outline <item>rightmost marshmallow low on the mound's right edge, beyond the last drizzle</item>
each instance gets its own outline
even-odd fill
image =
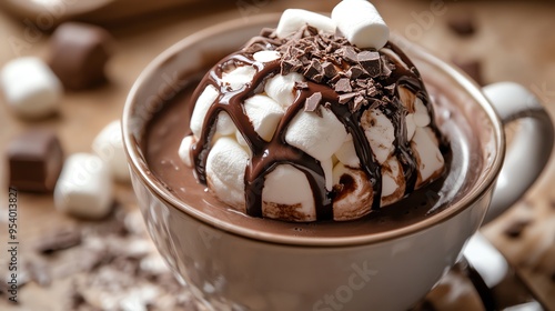
[[[437,140],[430,128],[416,127],[412,147],[417,153],[420,180],[416,187],[418,187],[422,182],[426,182],[435,173],[443,170],[444,159],[437,148]]]

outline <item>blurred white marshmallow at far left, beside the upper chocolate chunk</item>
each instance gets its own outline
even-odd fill
[[[58,109],[63,90],[60,80],[40,59],[19,58],[0,73],[6,101],[26,118],[42,118]]]

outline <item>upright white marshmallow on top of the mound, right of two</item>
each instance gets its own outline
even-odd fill
[[[332,20],[346,39],[361,49],[380,50],[390,39],[390,29],[366,0],[343,0],[333,9]]]

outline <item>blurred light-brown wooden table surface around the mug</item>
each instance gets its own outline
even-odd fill
[[[60,113],[41,121],[20,120],[0,101],[0,152],[3,153],[16,134],[30,128],[53,129],[59,134],[67,154],[90,152],[95,134],[111,120],[120,118],[127,93],[138,74],[169,46],[224,20],[249,19],[253,14],[282,11],[291,7],[330,11],[336,3],[330,0],[297,2],[213,1],[214,4],[205,7],[185,7],[104,24],[118,42],[117,53],[108,67],[109,82],[93,90],[67,92]],[[435,14],[431,13],[433,10],[430,1],[374,2],[394,32],[407,36],[444,59],[480,60],[485,82],[519,82],[535,92],[552,116],[555,116],[555,4],[552,2],[440,1],[445,9]],[[475,19],[477,31],[474,36],[461,38],[446,27],[446,20],[461,14],[471,14]],[[46,31],[38,31],[30,23],[0,11],[0,66],[22,56],[44,58],[48,54],[48,39],[52,28],[44,27]],[[7,245],[8,230],[7,203],[3,203],[8,201],[6,177],[7,167],[2,160],[2,245]],[[555,310],[554,182],[555,161],[551,161],[525,198],[483,229],[484,234],[518,268],[518,272],[551,310]],[[137,212],[134,195],[128,184],[117,185],[115,200],[127,212]],[[528,224],[518,238],[511,238],[505,231],[518,220],[527,220]],[[59,228],[90,225],[57,212],[49,194],[20,193],[18,221],[20,255],[29,259],[36,255],[32,247],[34,242],[48,232]],[[7,260],[2,247],[0,271],[6,269]],[[49,259],[48,262],[57,264],[56,260],[58,259]],[[0,309],[70,310],[62,301],[68,300],[67,291],[74,284],[78,275],[82,274],[82,271],[72,273],[69,269],[67,273],[57,274],[50,285],[30,282],[20,289],[20,303],[17,305],[7,303],[6,295],[0,295]],[[466,310],[464,304],[456,300],[452,303],[447,310]]]

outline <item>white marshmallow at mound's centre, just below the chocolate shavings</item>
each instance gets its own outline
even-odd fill
[[[316,160],[325,161],[340,149],[347,132],[330,109],[320,107],[320,110],[322,117],[301,110],[289,124],[285,141]]]

